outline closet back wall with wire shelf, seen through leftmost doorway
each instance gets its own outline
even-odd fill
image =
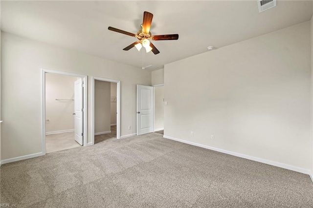
[[[45,74],[45,132],[74,129],[74,99],[76,77]]]

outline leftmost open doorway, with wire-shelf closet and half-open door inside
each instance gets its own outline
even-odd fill
[[[86,146],[87,76],[42,70],[43,152]]]

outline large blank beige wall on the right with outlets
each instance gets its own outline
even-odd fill
[[[307,21],[166,64],[164,135],[309,170],[310,39]]]

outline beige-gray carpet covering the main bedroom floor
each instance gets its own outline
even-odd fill
[[[108,140],[0,167],[18,208],[312,208],[308,175],[163,139]]]

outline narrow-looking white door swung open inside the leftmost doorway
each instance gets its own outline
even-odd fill
[[[75,141],[83,145],[83,82],[75,81]]]

